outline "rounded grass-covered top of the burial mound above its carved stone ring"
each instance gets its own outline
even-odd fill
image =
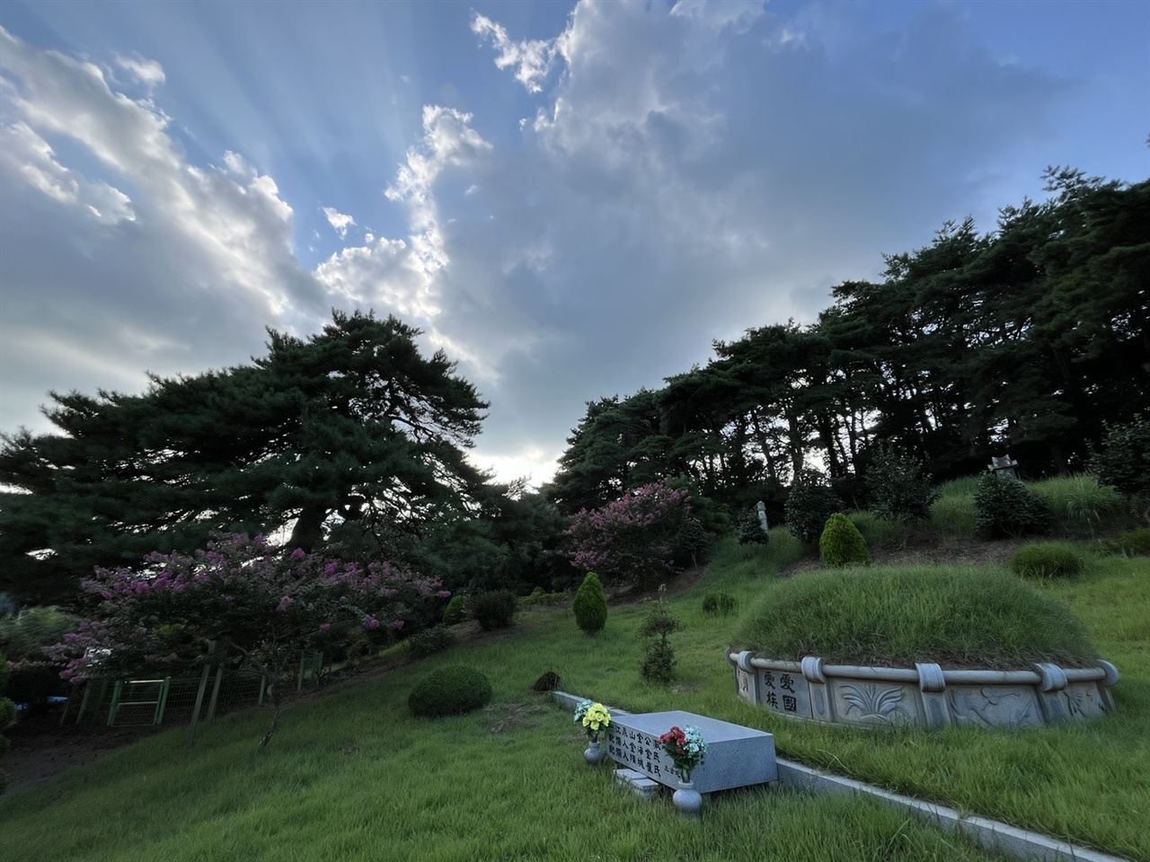
[[[830,664],[1091,667],[1068,608],[1007,572],[975,567],[850,568],[775,582],[744,617],[739,648]]]

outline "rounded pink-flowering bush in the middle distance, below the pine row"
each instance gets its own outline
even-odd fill
[[[567,530],[572,562],[619,580],[653,582],[676,571],[676,540],[690,495],[661,482],[643,485],[600,509],[581,509]]]

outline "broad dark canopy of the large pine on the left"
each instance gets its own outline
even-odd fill
[[[0,588],[69,602],[94,567],[191,553],[218,532],[334,532],[379,555],[485,477],[465,459],[488,405],[420,331],[334,313],[307,339],[268,330],[251,364],[150,376],[143,394],[51,393],[59,429],[2,436]]]

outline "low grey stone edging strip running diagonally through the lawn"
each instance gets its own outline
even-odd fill
[[[554,691],[552,694],[557,701],[570,709],[574,709],[575,705],[583,700],[583,698],[568,692]],[[611,706],[608,709],[618,715],[631,715],[626,709],[616,709]],[[784,787],[796,787],[819,795],[864,794],[884,805],[899,808],[918,819],[941,829],[949,828],[961,832],[986,849],[1010,853],[1019,859],[1038,860],[1038,862],[1129,862],[1122,856],[1091,851],[1067,841],[1058,841],[1041,832],[1010,826],[988,817],[964,816],[953,808],[891,793],[853,778],[843,778],[812,769],[792,760],[776,757],[775,762],[779,765],[779,784]]]

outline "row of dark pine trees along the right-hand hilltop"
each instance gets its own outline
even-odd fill
[[[658,391],[589,402],[549,494],[573,513],[685,476],[774,508],[821,463],[861,505],[879,440],[936,480],[1007,451],[1032,477],[1081,469],[1107,423],[1150,406],[1150,180],[1045,179],[1049,199],[992,232],[948,222],[881,282],[837,285],[808,326],[749,329]]]

